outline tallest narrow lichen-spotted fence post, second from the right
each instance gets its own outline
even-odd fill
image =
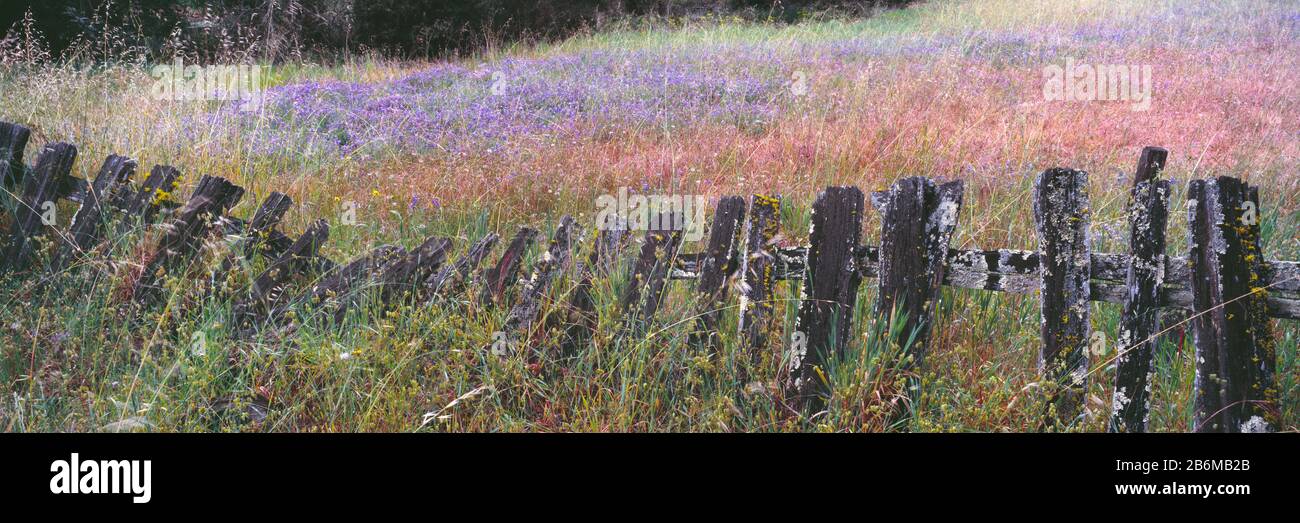
[[[1169,151],[1144,147],[1138,159],[1128,207],[1127,295],[1115,340],[1115,390],[1109,432],[1147,432],[1150,381],[1160,329],[1160,289],[1165,284],[1165,225],[1169,181],[1158,180]]]

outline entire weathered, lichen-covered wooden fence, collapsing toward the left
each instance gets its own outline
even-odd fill
[[[183,206],[174,203],[179,172],[159,165],[143,183],[131,183],[134,160],[112,155],[91,182],[70,174],[77,148],[46,146],[32,167],[23,163],[27,129],[0,122],[0,180],[17,195],[0,271],[39,273],[43,278],[75,271],[75,262],[100,256],[105,230],[150,224],[169,209],[161,235],[143,260],[129,299],[140,307],[164,298],[168,277],[204,277],[207,293],[233,293],[234,325],[240,336],[282,333],[295,325],[294,306],[339,320],[361,299],[381,306],[417,306],[471,291],[488,307],[508,310],[503,340],[493,347],[536,345],[538,329],[563,332],[560,350],[572,354],[595,328],[590,294],[597,278],[618,271],[628,230],[601,230],[585,259],[576,251],[582,230],[560,219],[532,268],[524,260],[540,232],[521,228],[499,260],[478,267],[500,239],[488,234],[447,263],[451,241],[430,237],[407,250],[381,246],[346,264],[320,254],[329,238],[324,220],[298,238],[280,230],[292,202],[272,193],[248,221],[228,215],[243,189],[204,176]],[[680,252],[682,235],[670,228],[644,232],[620,299],[624,333],[640,332],[654,317],[675,280],[694,280],[698,315],[690,342],[702,350],[719,342],[720,316],[728,308],[729,281],[738,291],[738,340],[750,358],[763,358],[776,332],[775,285],[800,281],[794,330],[783,360],[784,399],[798,411],[820,409],[832,394],[824,369],[849,349],[853,311],[862,280],[879,285],[875,314],[897,321],[893,342],[905,347],[904,368],[922,368],[941,299],[941,286],[1040,294],[1039,364],[1052,389],[1049,424],[1075,423],[1091,368],[1108,362],[1089,354],[1095,333],[1088,302],[1123,306],[1117,336],[1115,382],[1109,428],[1141,432],[1150,405],[1152,359],[1162,310],[1190,312],[1196,345],[1193,428],[1205,432],[1258,432],[1275,427],[1277,355],[1270,316],[1300,319],[1300,263],[1270,262],[1261,255],[1257,187],[1236,178],[1199,180],[1188,190],[1191,241],[1187,256],[1166,256],[1169,182],[1160,178],[1167,154],[1148,147],[1131,189],[1130,254],[1092,252],[1088,174],[1049,169],[1037,177],[1034,216],[1039,250],[957,250],[949,241],[962,206],[959,181],[935,183],[923,177],[900,180],[870,195],[881,215],[880,246],[861,245],[867,196],[857,187],[827,187],[812,204],[810,245],[781,247],[781,199],[753,195],[719,202],[702,252]],[[79,203],[70,225],[60,230],[47,212],[60,199]],[[654,221],[672,224],[672,220]],[[680,221],[679,221],[680,224]],[[190,264],[213,234],[238,238],[217,269],[195,276]],[[35,268],[40,238],[57,243],[48,267]],[[225,280],[240,258],[263,256],[266,269],[243,289]],[[566,275],[573,285],[560,311],[543,317],[545,302]],[[515,284],[523,281],[520,289]],[[558,317],[558,319],[556,319]],[[534,355],[537,346],[526,347]],[[910,389],[919,386],[913,380]],[[914,392],[913,392],[914,393]]]

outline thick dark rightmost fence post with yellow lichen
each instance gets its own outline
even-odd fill
[[[1258,193],[1238,178],[1187,187],[1192,332],[1196,342],[1193,432],[1277,428],[1277,354],[1260,280]]]

